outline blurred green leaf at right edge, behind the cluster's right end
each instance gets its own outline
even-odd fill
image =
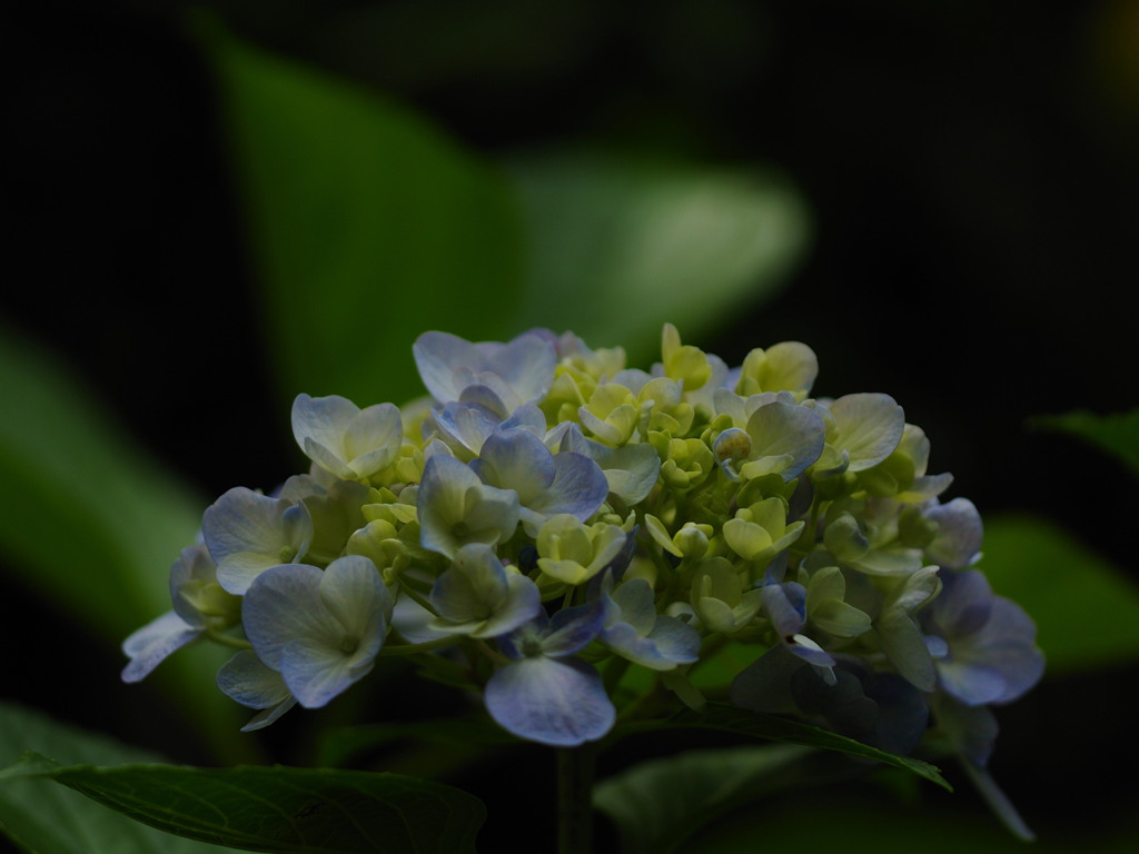
[[[1048,673],[1139,660],[1139,585],[1062,527],[986,518],[981,568],[1035,621]]]

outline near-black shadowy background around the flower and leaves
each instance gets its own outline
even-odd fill
[[[816,391],[894,395],[931,436],[932,467],[957,476],[952,494],[983,514],[1046,516],[1139,580],[1134,482],[1027,422],[1139,402],[1139,3],[205,6],[487,157],[572,142],[782,169],[811,208],[812,247],[775,299],[691,343],[729,362],[809,343]],[[277,483],[298,454],[268,381],[213,82],[181,7],[28,7],[5,13],[0,319],[67,359],[203,495]],[[137,734],[116,730],[114,705],[137,695],[103,681],[114,650],[76,649],[19,591],[0,616],[51,621],[72,662],[42,681],[16,656],[28,701]],[[1125,736],[1137,675],[1046,681],[1002,711],[995,767],[1030,823],[1063,835],[1136,806],[1133,785],[1107,786],[1105,757],[1139,761]],[[75,701],[104,695],[116,699]],[[189,750],[163,744],[159,725],[142,738]]]

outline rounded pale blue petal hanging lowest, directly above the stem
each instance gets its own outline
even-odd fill
[[[484,696],[500,726],[555,747],[595,741],[616,718],[600,675],[576,659],[523,658],[495,671]]]

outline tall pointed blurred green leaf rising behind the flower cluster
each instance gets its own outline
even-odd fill
[[[516,206],[494,173],[409,109],[200,27],[287,399],[424,394],[411,344],[522,329]]]

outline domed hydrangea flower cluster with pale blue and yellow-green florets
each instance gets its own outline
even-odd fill
[[[665,326],[649,371],[548,330],[413,351],[429,399],[296,399],[309,471],[205,511],[173,610],[124,643],[126,681],[228,643],[218,684],[256,729],[407,655],[568,747],[609,732],[629,668],[699,707],[697,668],[745,644],[737,706],[902,754],[932,717],[982,767],[990,706],[1041,675],[926,435],[885,394],[811,397],[804,344],[729,368]]]

